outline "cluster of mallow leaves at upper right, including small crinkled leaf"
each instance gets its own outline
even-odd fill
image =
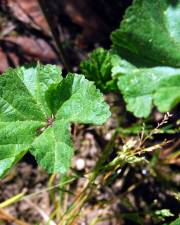
[[[103,92],[120,92],[136,117],[180,102],[180,1],[134,0],[110,50],[96,49],[80,69]]]

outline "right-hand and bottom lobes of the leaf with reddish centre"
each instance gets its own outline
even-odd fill
[[[56,122],[37,139],[31,152],[49,172],[63,173],[69,168],[73,154],[69,124],[76,122],[100,125],[110,113],[102,94],[82,75],[68,74],[60,84],[49,89],[46,98]],[[61,136],[58,138],[59,134]],[[46,141],[50,139],[48,137],[51,142]],[[43,146],[46,144],[44,147],[47,151],[41,148],[42,143]]]

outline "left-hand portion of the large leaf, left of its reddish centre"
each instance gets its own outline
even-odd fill
[[[51,83],[61,79],[58,67],[50,65],[9,69],[0,77],[0,177],[46,125],[47,106],[42,99]]]

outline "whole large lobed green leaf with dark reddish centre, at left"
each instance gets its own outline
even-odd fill
[[[84,76],[58,67],[9,69],[0,76],[0,177],[27,151],[48,172],[65,173],[72,122],[102,124],[110,116],[102,94]]]

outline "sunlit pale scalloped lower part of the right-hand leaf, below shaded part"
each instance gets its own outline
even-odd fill
[[[180,69],[136,68],[119,76],[118,87],[135,116],[149,116],[153,104],[160,112],[168,112],[180,102]]]

